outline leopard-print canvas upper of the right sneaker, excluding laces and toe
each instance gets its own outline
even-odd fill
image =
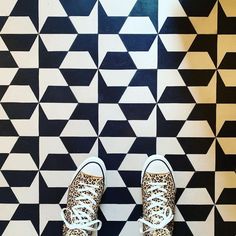
[[[167,190],[167,192],[164,194],[164,197],[167,199],[166,206],[170,207],[172,210],[172,213],[174,214],[175,210],[175,184],[174,179],[172,177],[171,173],[163,173],[163,174],[153,174],[145,172],[142,180],[142,198],[143,198],[143,218],[150,223],[154,223],[153,217],[150,216],[151,210],[148,210],[148,207],[151,205],[150,201],[147,201],[147,199],[151,196],[151,192],[148,192],[147,190],[150,188],[150,183],[166,183],[163,188]],[[155,190],[154,193],[157,193],[158,190]],[[153,208],[155,211],[159,211],[160,207],[157,206]],[[145,233],[145,236],[171,236],[173,233],[173,220],[166,225],[166,229],[159,229],[152,232]],[[144,225],[143,230],[146,231],[148,229],[148,226]]]

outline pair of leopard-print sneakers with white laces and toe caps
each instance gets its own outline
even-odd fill
[[[98,207],[105,191],[106,167],[98,157],[84,161],[68,189],[67,207],[62,209],[63,236],[91,236],[102,227]],[[150,156],[141,176],[145,236],[171,236],[175,208],[173,170],[160,155]]]

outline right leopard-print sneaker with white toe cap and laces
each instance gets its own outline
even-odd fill
[[[171,236],[175,209],[175,183],[169,162],[153,155],[144,164],[141,178],[145,236]]]

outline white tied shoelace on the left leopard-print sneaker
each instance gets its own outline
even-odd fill
[[[62,209],[61,217],[67,228],[72,230],[79,229],[87,236],[88,231],[98,231],[102,227],[102,222],[100,220],[92,220],[90,216],[91,214],[95,213],[93,210],[93,205],[97,204],[92,196],[97,196],[95,189],[99,187],[97,185],[85,183],[80,183],[79,185],[80,188],[78,188],[77,191],[80,196],[75,198],[75,200],[78,201],[77,205],[73,206],[71,209]],[[90,203],[86,203],[88,201]],[[84,211],[85,209],[88,211],[88,213]],[[66,220],[66,212],[70,214],[71,222]]]

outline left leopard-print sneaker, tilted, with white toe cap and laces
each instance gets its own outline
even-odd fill
[[[98,157],[88,158],[79,166],[68,189],[67,207],[61,212],[63,236],[90,236],[101,228],[97,211],[105,190],[105,172]]]

